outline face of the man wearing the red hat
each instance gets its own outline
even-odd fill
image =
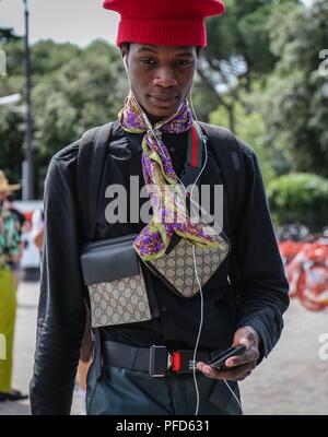
[[[131,44],[128,55],[131,90],[152,122],[172,116],[191,87],[197,68],[195,46]]]

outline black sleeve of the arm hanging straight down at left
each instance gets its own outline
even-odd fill
[[[52,157],[45,182],[45,243],[32,414],[70,414],[85,329],[73,160]]]

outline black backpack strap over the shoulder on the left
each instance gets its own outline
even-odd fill
[[[91,241],[95,235],[99,188],[114,123],[90,129],[80,140],[77,184],[82,232],[86,241]]]

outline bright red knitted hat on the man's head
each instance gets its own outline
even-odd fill
[[[126,42],[206,47],[204,19],[224,12],[221,0],[105,0],[104,8],[121,15],[117,47]]]

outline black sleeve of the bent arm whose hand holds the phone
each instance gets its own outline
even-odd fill
[[[277,344],[289,307],[289,283],[272,227],[258,160],[239,141],[245,158],[243,211],[233,245],[232,283],[238,290],[237,328],[253,327],[261,339],[260,358]]]

